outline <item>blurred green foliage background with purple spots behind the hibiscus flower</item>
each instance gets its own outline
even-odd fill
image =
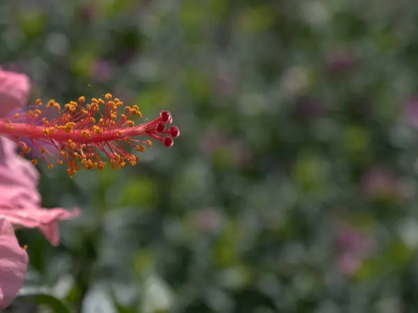
[[[0,32],[32,102],[110,92],[181,130],[134,168],[40,163],[82,216],[58,248],[17,233],[8,312],[418,312],[417,3],[2,0]]]

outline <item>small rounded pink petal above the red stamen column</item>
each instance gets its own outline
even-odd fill
[[[26,75],[0,69],[0,116],[23,106],[29,89],[29,79]]]

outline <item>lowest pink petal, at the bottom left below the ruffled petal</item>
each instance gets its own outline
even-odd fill
[[[24,283],[28,266],[26,250],[20,248],[15,231],[6,218],[0,218],[0,309],[10,305]]]

